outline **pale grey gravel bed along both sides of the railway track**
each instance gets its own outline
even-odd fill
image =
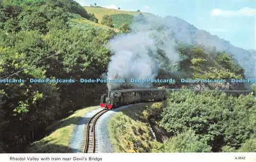
[[[109,129],[108,129],[108,122],[113,117],[113,115],[122,109],[129,108],[131,106],[136,106],[144,103],[137,103],[132,105],[126,105],[114,110],[110,110],[105,112],[101,117],[98,119],[96,123],[96,152],[100,153],[111,153],[114,152],[114,147],[110,142],[109,137]],[[83,135],[84,129],[86,128],[86,124],[89,120],[93,117],[93,115],[97,112],[102,110],[102,108],[98,108],[92,111],[87,112],[84,116],[79,120],[79,122],[74,126],[74,131],[70,140],[69,147],[73,150],[72,153],[82,153],[82,145],[83,145]]]

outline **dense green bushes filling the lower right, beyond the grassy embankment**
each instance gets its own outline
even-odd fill
[[[206,151],[210,147],[213,152],[255,152],[255,145],[250,144],[255,142],[255,112],[256,101],[253,96],[235,98],[218,91],[196,94],[191,90],[182,90],[170,93],[160,126],[176,136],[173,142],[178,140],[183,143],[188,136],[197,139],[197,148],[184,148],[187,151]],[[176,141],[166,143],[163,147],[176,150],[180,145]],[[181,151],[181,148],[177,151]]]

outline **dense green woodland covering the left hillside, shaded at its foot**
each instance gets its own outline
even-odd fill
[[[0,151],[21,152],[53,121],[94,103],[105,88],[30,84],[29,78],[100,77],[110,59],[104,44],[115,32],[80,28],[71,15],[91,20],[95,16],[69,0],[4,0],[0,13],[0,78],[26,80],[0,84]]]

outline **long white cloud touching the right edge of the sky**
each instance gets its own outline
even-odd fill
[[[244,7],[240,10],[221,10],[214,9],[211,16],[256,16],[256,9]]]

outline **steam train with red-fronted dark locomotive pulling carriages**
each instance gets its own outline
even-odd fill
[[[180,91],[181,89],[160,89],[160,88],[142,88],[142,89],[122,89],[109,91],[100,98],[100,107],[113,109],[119,106],[132,103],[147,101],[162,101],[167,97],[168,92]],[[251,94],[250,90],[220,90],[228,95],[239,97],[240,95]]]

